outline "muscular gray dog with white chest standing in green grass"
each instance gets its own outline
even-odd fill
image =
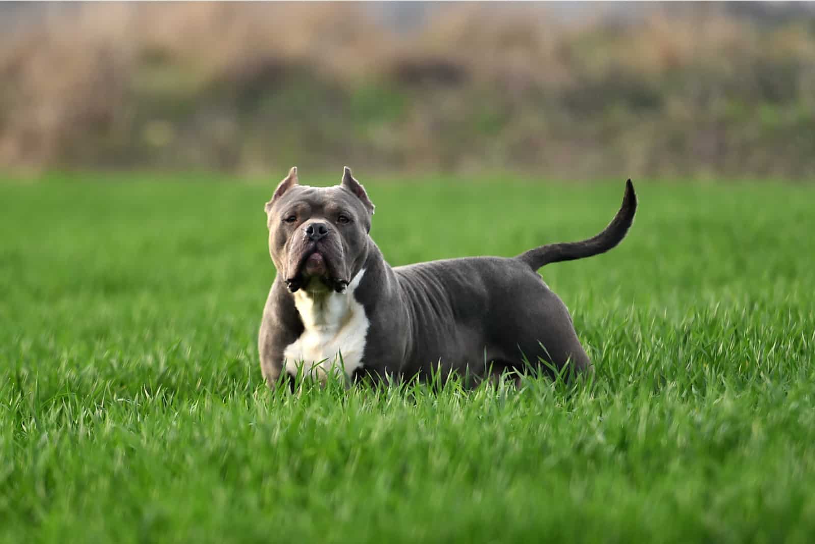
[[[614,248],[634,219],[623,204],[591,239],[518,257],[466,257],[391,268],[370,235],[373,204],[346,167],[338,186],[297,183],[297,168],[266,204],[277,275],[258,338],[267,382],[299,372],[323,381],[409,379],[450,371],[477,379],[522,371],[591,371],[571,316],[537,270]]]

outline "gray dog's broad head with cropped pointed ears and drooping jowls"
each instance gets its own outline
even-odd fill
[[[297,167],[266,203],[269,252],[290,292],[345,292],[368,252],[373,204],[346,166],[340,185],[299,185]]]

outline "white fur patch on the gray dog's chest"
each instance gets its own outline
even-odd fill
[[[324,379],[328,373],[350,377],[362,366],[368,317],[354,298],[365,270],[359,270],[345,293],[294,293],[294,305],[305,330],[283,352],[286,371]]]

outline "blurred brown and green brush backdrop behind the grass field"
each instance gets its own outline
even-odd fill
[[[815,2],[0,3],[0,170],[806,180]]]

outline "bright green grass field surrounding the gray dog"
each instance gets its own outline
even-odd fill
[[[392,265],[593,235],[624,181],[358,173]],[[815,188],[635,179],[619,248],[541,270],[594,384],[293,397],[277,180],[227,181],[0,184],[0,541],[815,539]]]

